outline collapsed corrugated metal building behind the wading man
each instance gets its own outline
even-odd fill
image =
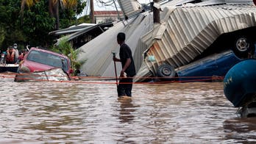
[[[142,10],[138,4],[132,7],[133,12],[124,11],[124,14],[132,13],[126,15],[127,20],[119,21],[79,48],[83,52],[78,60],[85,61],[81,70],[88,76],[115,76],[112,58],[113,51],[119,51],[118,32],[127,35],[126,43],[132,49],[137,70],[136,82],[157,76],[160,65],[174,68],[187,65],[216,41],[219,41],[218,48],[232,48],[241,35],[252,37],[255,34],[253,1],[173,0],[163,1],[160,8],[160,23],[157,24],[153,23],[153,12]],[[117,68],[119,73],[121,64]]]

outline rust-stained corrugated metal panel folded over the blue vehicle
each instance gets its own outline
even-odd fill
[[[166,25],[166,30],[158,30],[163,31],[160,39],[159,35],[155,39],[152,33],[143,38],[143,43],[153,43],[146,55],[153,55],[156,61],[145,62],[154,73],[163,62],[175,68],[188,64],[223,33],[256,26],[256,9],[248,5],[177,7],[175,10],[165,10],[172,12],[161,22]]]

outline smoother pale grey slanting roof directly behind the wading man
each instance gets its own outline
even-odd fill
[[[118,22],[113,27],[102,33],[98,37],[90,40],[84,46],[79,48],[84,53],[78,55],[78,60],[86,60],[82,65],[81,70],[88,76],[114,76],[113,54],[112,51],[117,52],[116,56],[119,57],[119,46],[116,41],[118,32],[126,34],[126,43],[132,49],[132,54],[136,63],[137,70],[141,67],[143,51],[146,49],[141,43],[141,37],[149,32],[153,27],[152,13],[145,12],[128,21]],[[117,62],[117,73],[121,71],[121,63]]]

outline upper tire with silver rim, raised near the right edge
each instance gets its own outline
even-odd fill
[[[246,36],[236,38],[234,46],[232,47],[232,51],[234,51],[235,55],[239,58],[247,58],[249,52],[252,52],[254,49],[254,43]]]

